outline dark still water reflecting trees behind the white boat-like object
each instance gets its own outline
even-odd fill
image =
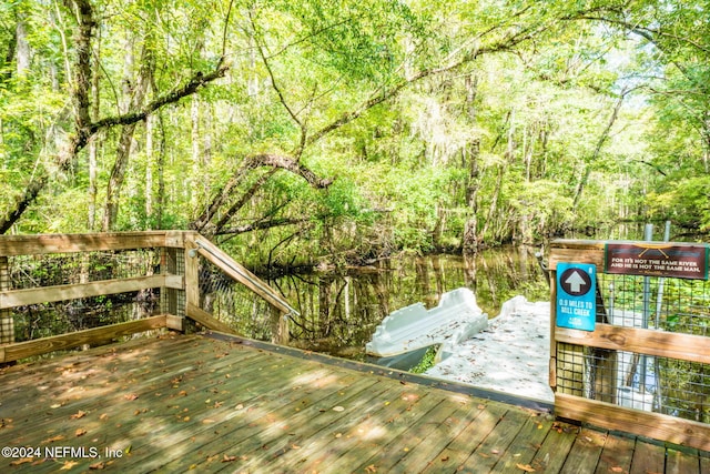
[[[270,283],[301,312],[291,322],[291,345],[364,360],[365,343],[388,313],[419,301],[435,306],[443,293],[460,286],[471,289],[491,317],[517,294],[548,300],[534,252],[506,248],[475,258],[399,256],[345,274],[288,275]]]

